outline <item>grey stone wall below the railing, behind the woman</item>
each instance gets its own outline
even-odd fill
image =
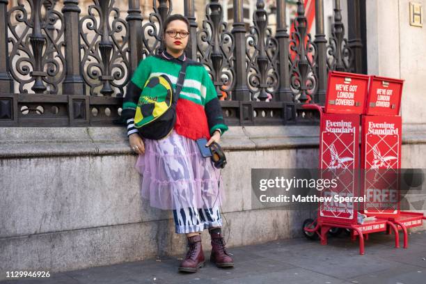
[[[251,168],[315,166],[315,127],[230,128],[222,171],[228,245],[300,236],[309,212],[251,210]],[[302,137],[301,129],[313,135]],[[1,128],[0,142],[0,271],[184,253],[171,212],[140,198],[124,127]],[[203,242],[209,247],[207,237]]]

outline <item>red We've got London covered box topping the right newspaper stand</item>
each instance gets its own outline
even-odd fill
[[[365,114],[397,116],[400,114],[402,84],[404,80],[370,77]]]

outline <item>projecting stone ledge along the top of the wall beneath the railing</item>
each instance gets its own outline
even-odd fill
[[[426,143],[426,125],[403,125],[403,144]],[[230,127],[225,150],[317,148],[317,126]],[[134,154],[125,127],[3,127],[0,158]]]

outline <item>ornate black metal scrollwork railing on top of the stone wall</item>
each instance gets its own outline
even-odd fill
[[[0,126],[119,124],[127,82],[142,58],[164,49],[162,23],[173,11],[172,1],[153,0],[144,19],[140,4],[0,0]],[[329,41],[322,0],[315,1],[315,40],[303,1],[297,1],[291,34],[285,0],[271,9],[275,33],[265,1],[257,2],[248,30],[243,1],[232,4],[232,27],[221,3],[212,0],[198,29],[194,0],[184,1],[191,30],[187,55],[209,70],[229,125],[313,122],[317,117],[301,104],[324,102],[327,72],[362,72],[361,0],[347,3],[349,40],[335,0]]]

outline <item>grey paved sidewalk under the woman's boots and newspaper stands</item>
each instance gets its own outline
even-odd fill
[[[409,235],[409,248],[394,248],[393,237],[373,234],[358,255],[358,242],[344,234],[318,241],[288,239],[229,248],[235,267],[207,265],[196,274],[178,273],[178,258],[127,262],[58,274],[49,279],[3,281],[24,284],[135,284],[135,283],[426,283],[426,231]],[[401,235],[402,245],[402,235]],[[205,251],[208,260],[210,251]]]

